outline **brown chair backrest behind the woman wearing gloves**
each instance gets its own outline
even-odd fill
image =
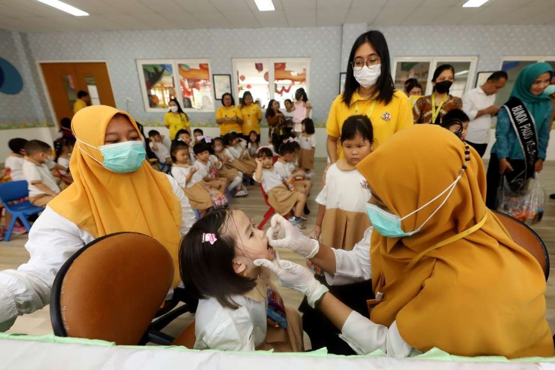
[[[542,266],[544,275],[549,277],[549,254],[541,237],[531,227],[512,216],[499,211],[493,211],[499,221],[505,226],[516,244],[526,249]]]

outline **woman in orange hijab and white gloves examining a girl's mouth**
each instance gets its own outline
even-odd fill
[[[357,266],[353,260],[366,262],[363,270],[381,298],[370,318],[299,265],[255,263],[304,293],[359,354],[382,349],[407,357],[433,347],[459,356],[555,354],[542,268],[486,208],[486,174],[474,149],[439,126],[415,125],[391,136],[357,169],[372,192],[370,255],[359,253],[346,264],[346,253],[296,235],[277,218],[270,233],[285,236],[270,245],[299,252],[331,277]]]

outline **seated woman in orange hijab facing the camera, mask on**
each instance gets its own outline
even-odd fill
[[[157,239],[174,259],[173,286],[180,281],[179,241],[195,216],[179,184],[144,160],[133,118],[93,105],[75,114],[72,130],[77,139],[69,163],[74,183],[34,222],[25,245],[29,261],[0,272],[0,331],[11,327],[18,315],[47,305],[63,263],[85,244],[113,232],[134,231]]]

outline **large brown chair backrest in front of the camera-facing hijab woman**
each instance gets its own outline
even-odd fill
[[[152,237],[118,232],[67,260],[54,280],[50,313],[57,336],[136,345],[171,287],[174,263]]]

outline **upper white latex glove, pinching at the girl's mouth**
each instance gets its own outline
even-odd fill
[[[305,259],[316,256],[320,250],[317,240],[310,239],[299,231],[291,222],[280,215],[274,215],[270,221],[266,236],[274,248],[286,248],[300,254]]]

